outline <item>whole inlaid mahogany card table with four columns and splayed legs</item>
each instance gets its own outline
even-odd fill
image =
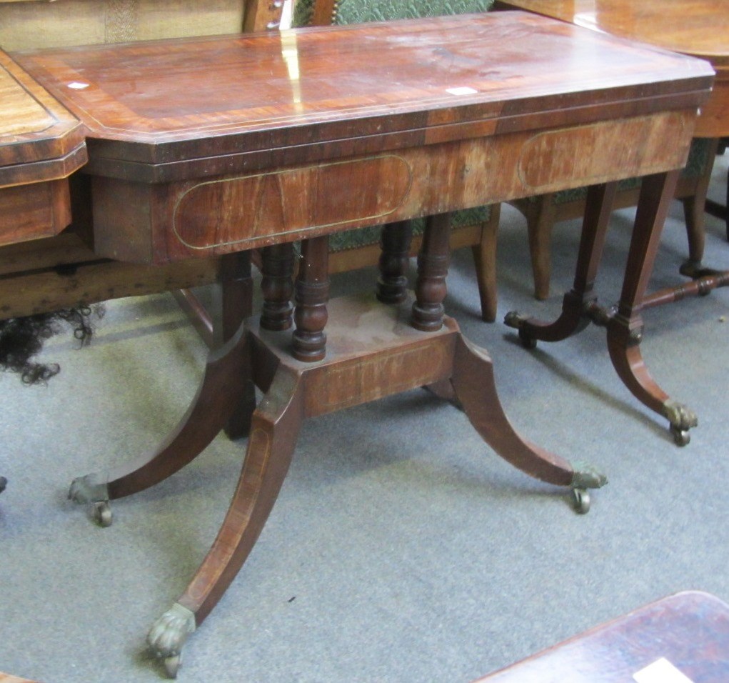
[[[585,489],[605,477],[522,439],[491,359],[443,315],[448,212],[644,174],[667,197],[712,83],[708,64],[521,12],[15,58],[87,127],[101,254],[167,263],[262,250],[260,322],[211,357],[177,431],[138,462],[71,487],[108,516],[111,498],[195,458],[250,378],[263,390],[219,535],[149,634],[168,671],[251,551],[305,417],[434,387],[498,455],[572,487],[586,509]],[[424,215],[411,303],[407,225]],[[662,217],[654,207],[650,225]],[[327,236],[379,223],[381,301],[327,307]]]

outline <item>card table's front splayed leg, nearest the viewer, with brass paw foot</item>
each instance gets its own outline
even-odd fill
[[[217,538],[178,601],[152,626],[147,642],[176,675],[187,636],[238,574],[268,520],[289,470],[304,417],[300,375],[279,368],[253,414],[238,487]]]

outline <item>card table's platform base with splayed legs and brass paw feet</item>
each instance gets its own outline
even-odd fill
[[[586,489],[607,482],[592,468],[574,467],[522,439],[504,414],[488,354],[469,344],[452,318],[445,317],[438,331],[414,329],[411,307],[412,301],[386,305],[367,296],[331,301],[327,355],[319,363],[292,358],[289,332],[262,330],[249,319],[246,333],[239,332],[213,355],[198,401],[155,455],[136,470],[126,468],[111,478],[87,475],[74,482],[71,494],[77,502],[108,501],[152,485],[192,460],[195,449],[203,449],[240,401],[241,390],[235,385],[246,379],[246,358],[250,358],[254,382],[265,395],[252,414],[233,501],[187,590],[149,633],[152,650],[165,660],[172,676],[188,634],[213,609],[254,546],[288,471],[305,417],[416,387],[433,385],[443,393],[450,385],[472,425],[498,455],[529,476],[571,487],[582,503],[581,512],[588,507]]]

